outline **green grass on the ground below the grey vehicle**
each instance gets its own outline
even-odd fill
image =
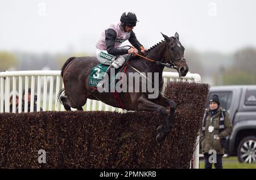
[[[223,157],[222,165],[224,169],[256,169],[256,163],[240,163],[237,157]],[[204,169],[204,159],[200,160],[200,169]]]

